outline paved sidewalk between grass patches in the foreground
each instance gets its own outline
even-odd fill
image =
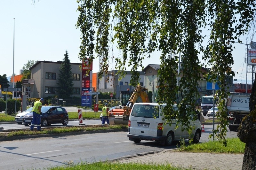
[[[196,170],[241,170],[244,154],[216,154],[164,150],[116,159],[120,163],[171,164]]]

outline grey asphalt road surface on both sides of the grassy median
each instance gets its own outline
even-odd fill
[[[207,116],[206,118],[211,117]],[[78,121],[70,121],[68,125],[71,123],[77,125]],[[88,125],[89,123],[100,124],[101,122],[100,120],[84,120],[84,123]],[[25,127],[24,125],[18,124],[9,125]],[[62,126],[62,124],[56,124],[54,126]],[[7,128],[7,124],[5,124],[5,128]],[[212,128],[213,125],[204,125],[205,132],[202,133],[200,142],[209,141]],[[177,147],[177,143],[169,147],[159,145],[152,141],[133,143],[128,140],[126,133],[108,132],[83,135],[57,135],[43,138],[2,141],[0,146],[0,169],[38,169],[79,163],[81,161],[92,163],[117,158],[122,159],[122,157],[130,155],[176,149]],[[228,130],[227,137],[237,137],[237,132],[230,132]]]

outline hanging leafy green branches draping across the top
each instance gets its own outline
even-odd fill
[[[79,58],[90,58],[91,62],[99,58],[100,77],[108,71],[109,58],[115,57],[116,69],[120,73],[125,70],[127,63],[131,66],[131,85],[135,86],[139,79],[136,72],[138,66],[143,68],[143,59],[150,58],[156,50],[160,51],[159,84],[168,84],[168,87],[159,89],[158,101],[167,103],[164,108],[166,119],[176,116],[177,124],[189,124],[190,117],[186,111],[194,110],[196,98],[199,97],[196,87],[201,79],[200,67],[211,67],[210,72],[204,76],[207,81],[214,81],[220,86],[220,90],[216,91],[220,124],[213,133],[226,145],[228,120],[225,102],[229,93],[225,90],[225,80],[227,75],[235,75],[232,71],[234,43],[241,43],[240,35],[247,33],[250,26],[255,26],[255,0],[77,2],[80,15],[76,26],[82,33]],[[204,35],[205,29],[209,31],[208,36]],[[119,49],[118,56],[109,54],[113,44]],[[180,52],[182,77],[177,83],[176,71]],[[199,57],[203,58],[204,64],[200,63]],[[156,60],[158,59],[157,57]],[[177,94],[181,96],[179,112],[170,112]],[[191,128],[187,130],[191,131]],[[252,153],[245,157],[255,160],[256,153]],[[256,166],[255,161],[246,163]]]

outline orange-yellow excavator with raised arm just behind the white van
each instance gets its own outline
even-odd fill
[[[138,85],[134,90],[133,93],[128,100],[128,103],[125,106],[116,106],[115,109],[110,110],[109,118],[114,117],[114,123],[115,124],[128,124],[130,112],[132,109],[132,106],[136,102],[143,102],[147,103],[149,102],[148,99],[148,89],[145,87],[142,87]]]

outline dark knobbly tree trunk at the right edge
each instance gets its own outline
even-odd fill
[[[256,73],[255,73],[256,74]],[[256,169],[256,75],[250,96],[250,114],[247,115],[238,128],[237,136],[245,143],[242,170]]]

